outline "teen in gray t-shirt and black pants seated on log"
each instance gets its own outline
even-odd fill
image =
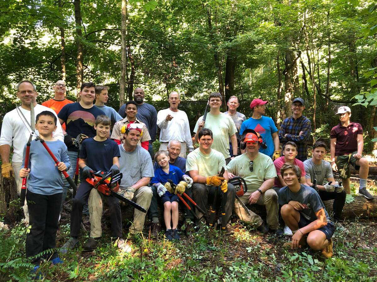
[[[326,144],[317,141],[314,143],[311,153],[313,157],[304,161],[306,182],[309,186],[312,186],[314,179],[316,179],[316,190],[321,200],[334,200],[333,219],[334,222],[337,222],[342,219],[346,193],[343,186],[339,186],[339,183],[335,181],[330,163],[323,160],[326,155]],[[325,178],[328,183],[323,185]]]

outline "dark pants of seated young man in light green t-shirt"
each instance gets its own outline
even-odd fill
[[[203,183],[194,183],[192,185],[192,194],[194,197],[194,201],[196,205],[198,205],[200,208],[202,208],[204,211],[207,212],[207,204],[213,203],[213,197],[215,196],[216,186],[208,186]],[[228,192],[227,192],[227,202],[225,204],[225,216],[221,218],[221,222],[224,223],[224,226],[228,223],[234,206],[234,199],[236,197],[236,192],[234,190],[234,186],[231,183],[228,183]],[[217,206],[219,207],[219,210],[221,211],[221,196],[217,196]],[[196,215],[198,217],[202,217],[202,213],[198,211],[198,209],[195,210]],[[205,218],[207,218],[207,214],[204,215]],[[199,223],[199,222],[197,222]]]

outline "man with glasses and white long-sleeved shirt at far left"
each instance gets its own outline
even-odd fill
[[[22,80],[16,86],[17,97],[21,101],[19,110],[16,108],[5,114],[0,135],[0,156],[2,159],[2,175],[7,179],[15,178],[17,183],[17,192],[20,195],[22,178],[20,177],[20,170],[22,165],[23,149],[29,139],[30,131],[26,122],[30,124],[31,118],[31,103],[34,105],[34,115],[37,116],[40,112],[50,111],[56,113],[45,106],[37,104],[35,101],[38,93],[35,85],[30,80]],[[24,120],[24,117],[26,120]],[[64,140],[63,132],[60,124],[57,124],[57,129],[54,131],[54,138],[61,141]],[[13,146],[12,164],[10,163],[10,152]],[[25,221],[29,222],[28,206],[23,207],[25,212]]]

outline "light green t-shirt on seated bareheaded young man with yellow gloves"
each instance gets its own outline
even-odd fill
[[[216,150],[211,149],[208,155],[204,155],[200,148],[196,148],[187,155],[186,172],[197,170],[199,175],[208,177],[219,174],[222,167],[227,170],[224,156]]]

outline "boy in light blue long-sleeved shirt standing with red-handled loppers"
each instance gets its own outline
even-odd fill
[[[28,177],[26,201],[28,203],[31,229],[26,237],[26,257],[35,257],[38,253],[56,247],[60,202],[63,191],[63,179],[60,171],[69,169],[70,162],[67,147],[62,141],[52,138],[56,129],[57,118],[50,111],[40,112],[36,117],[35,129],[52,153],[58,159],[56,165],[40,141],[30,144],[28,169],[21,168],[20,177]],[[23,152],[25,165],[26,145]],[[37,256],[33,259],[36,272],[41,259],[49,259],[53,264],[62,263],[56,251]]]

